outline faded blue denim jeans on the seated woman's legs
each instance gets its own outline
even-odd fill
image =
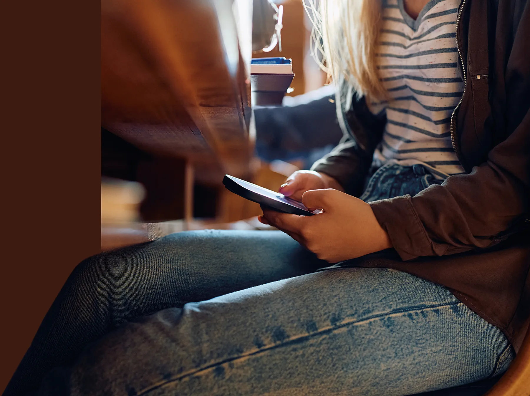
[[[514,357],[443,286],[326,266],[279,231],[183,232],[89,258],[5,395],[52,367],[39,395],[405,395]]]

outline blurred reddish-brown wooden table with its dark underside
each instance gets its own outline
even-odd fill
[[[194,182],[250,174],[252,0],[101,8],[102,172],[146,186],[146,221],[190,217]]]

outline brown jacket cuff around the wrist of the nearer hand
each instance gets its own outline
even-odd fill
[[[373,201],[369,205],[402,260],[435,254],[410,195]]]

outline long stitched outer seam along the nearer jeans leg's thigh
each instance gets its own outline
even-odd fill
[[[463,305],[463,306],[465,306],[465,304],[462,303],[461,301],[455,301],[455,302],[449,303],[449,304],[443,303],[443,304],[436,304],[436,305],[429,305],[429,306],[422,306],[422,307],[419,307],[419,306],[407,307],[407,308],[403,308],[403,309],[400,309],[400,310],[392,310],[391,312],[386,312],[386,313],[381,313],[381,314],[367,316],[364,319],[352,320],[350,322],[342,322],[340,324],[336,324],[334,326],[331,326],[331,327],[328,327],[328,328],[324,328],[324,329],[321,329],[319,331],[315,331],[315,332],[310,333],[310,334],[308,334],[306,336],[296,336],[296,337],[293,337],[293,338],[291,338],[291,339],[289,339],[287,341],[281,342],[280,344],[272,344],[272,345],[264,346],[264,347],[261,347],[261,348],[259,348],[257,350],[252,350],[252,351],[250,351],[248,353],[240,354],[238,356],[231,357],[231,358],[226,358],[224,360],[220,360],[219,362],[211,363],[211,364],[208,364],[208,365],[206,365],[204,367],[190,370],[187,373],[181,373],[179,376],[177,376],[177,377],[175,377],[173,379],[164,380],[163,382],[153,384],[153,385],[149,386],[149,388],[138,392],[137,395],[138,396],[147,395],[150,392],[153,392],[153,391],[155,391],[155,390],[157,390],[159,388],[162,388],[162,386],[165,386],[167,384],[170,384],[170,383],[173,383],[173,382],[176,382],[176,381],[180,381],[180,380],[184,379],[185,377],[189,377],[189,376],[195,375],[197,373],[200,373],[202,371],[206,371],[206,370],[208,370],[210,368],[213,368],[213,367],[216,367],[218,365],[222,365],[222,364],[229,363],[229,362],[235,362],[236,360],[239,360],[239,359],[242,359],[242,358],[246,358],[246,357],[249,357],[249,356],[258,355],[258,354],[261,354],[261,353],[266,352],[268,350],[276,349],[278,347],[288,346],[290,344],[293,344],[294,342],[297,343],[297,342],[299,342],[299,341],[301,341],[303,339],[308,339],[309,340],[309,339],[311,339],[311,338],[313,338],[315,336],[327,335],[329,333],[333,333],[335,330],[346,328],[346,327],[349,327],[351,325],[364,324],[363,322],[369,322],[369,321],[372,321],[374,319],[386,318],[386,317],[389,317],[389,316],[393,316],[393,315],[396,315],[396,314],[402,314],[402,313],[406,313],[406,312],[430,310],[430,309],[436,309],[436,308],[453,306],[453,305]]]

